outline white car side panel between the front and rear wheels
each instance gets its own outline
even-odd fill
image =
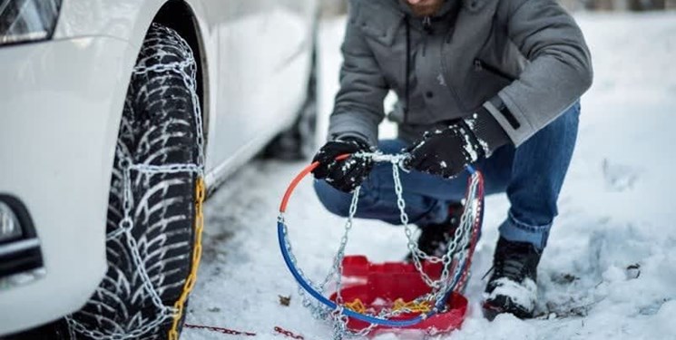
[[[232,168],[289,125],[306,94],[315,1],[202,0],[218,77],[208,169]]]

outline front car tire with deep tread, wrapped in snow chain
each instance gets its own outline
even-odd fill
[[[197,65],[152,24],[124,103],[109,200],[108,271],[73,339],[178,339],[201,257],[204,155]],[[93,226],[95,227],[95,226]]]

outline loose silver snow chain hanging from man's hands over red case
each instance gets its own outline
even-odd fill
[[[374,162],[389,162],[392,166],[392,177],[395,185],[395,193],[397,195],[397,208],[399,209],[399,217],[401,224],[404,226],[407,237],[407,247],[411,251],[413,265],[416,271],[420,274],[426,285],[432,288],[432,292],[423,296],[418,296],[416,299],[405,302],[398,301],[396,306],[392,308],[384,308],[378,312],[374,317],[380,319],[392,319],[396,316],[407,313],[439,313],[444,308],[446,298],[450,292],[456,289],[462,289],[468,277],[470,261],[470,245],[473,235],[478,233],[476,222],[480,221],[480,216],[483,209],[480,197],[483,197],[483,178],[480,172],[472,170],[472,175],[468,181],[468,188],[466,192],[465,209],[460,219],[459,227],[453,238],[449,239],[447,243],[446,254],[441,257],[427,255],[424,251],[417,247],[416,238],[414,238],[414,226],[409,223],[408,214],[406,212],[406,201],[404,200],[404,188],[400,176],[400,170],[407,171],[403,165],[407,159],[407,154],[383,154],[380,152],[356,153],[352,157],[368,158]],[[292,184],[293,185],[293,184]],[[311,294],[306,294],[304,287],[299,286],[299,296],[302,299],[303,306],[309,308],[318,320],[333,320],[334,332],[333,339],[340,340],[348,337],[366,336],[373,329],[376,328],[376,323],[370,323],[367,327],[360,331],[352,331],[348,328],[348,316],[344,313],[344,308],[348,308],[354,312],[366,312],[366,306],[361,301],[345,302],[341,296],[342,289],[342,261],[345,257],[345,248],[348,244],[349,232],[354,225],[355,215],[357,213],[359,191],[361,187],[357,187],[352,193],[352,199],[348,211],[348,219],[345,222],[343,236],[340,238],[338,252],[333,258],[333,266],[329,269],[328,275],[317,285],[298,267],[298,259],[293,254],[293,248],[289,240],[288,228],[284,217],[284,209],[280,209],[278,224],[281,226],[280,246],[285,248],[289,256],[289,268],[295,270],[298,277],[304,283],[314,290],[315,293],[322,295],[328,287],[328,283],[332,283],[333,290],[336,292],[335,308],[328,307],[327,304],[321,301],[315,301],[310,298]],[[441,276],[438,279],[433,279],[425,270],[423,270],[423,262],[440,263],[443,267]],[[454,262],[456,266],[453,266]],[[362,313],[363,314],[363,313]]]

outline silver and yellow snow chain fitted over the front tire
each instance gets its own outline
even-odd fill
[[[150,164],[134,164],[131,159],[121,158],[119,165],[122,169],[122,210],[123,218],[120,221],[117,229],[111,231],[106,235],[106,240],[113,238],[126,238],[126,245],[132,254],[134,266],[138,274],[142,278],[142,287],[151,296],[152,304],[157,309],[155,318],[142,327],[136,328],[131,332],[113,331],[102,332],[99,330],[89,329],[87,326],[75,320],[72,316],[67,316],[66,321],[69,328],[69,333],[74,339],[74,333],[85,335],[87,337],[97,340],[126,340],[139,339],[142,335],[146,335],[154,329],[157,329],[167,320],[173,319],[169,337],[171,340],[178,339],[178,324],[180,323],[183,306],[190,294],[197,279],[197,268],[201,258],[201,233],[204,225],[202,202],[205,198],[204,188],[204,133],[201,120],[201,105],[197,95],[197,86],[195,84],[196,63],[192,55],[187,55],[187,60],[177,63],[158,64],[153,66],[137,66],[133,73],[164,73],[173,72],[181,75],[181,79],[186,88],[191,92],[191,100],[193,102],[193,119],[195,121],[196,130],[196,149],[197,160],[195,163],[185,164],[167,164],[167,165],[150,165]],[[134,223],[132,219],[132,209],[134,207],[133,193],[132,193],[132,176],[131,171],[138,171],[140,174],[152,176],[156,174],[175,174],[175,173],[193,173],[196,175],[196,200],[195,200],[195,245],[191,257],[191,273],[186,281],[181,292],[181,296],[175,302],[174,306],[164,306],[162,298],[155,287],[152,286],[151,278],[148,275],[147,269],[143,263],[141,254],[139,253],[138,244],[132,235]]]

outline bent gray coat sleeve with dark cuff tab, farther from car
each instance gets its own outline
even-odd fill
[[[592,85],[583,33],[556,0],[503,0],[507,34],[529,61],[519,79],[485,104],[518,146]]]

